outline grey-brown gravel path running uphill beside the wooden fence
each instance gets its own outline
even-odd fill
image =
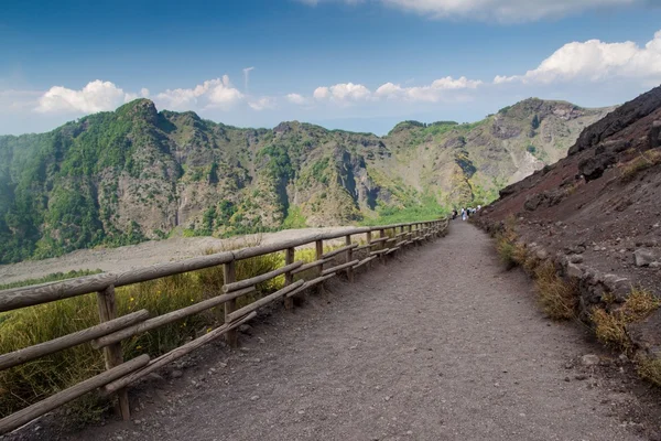
[[[489,238],[460,222],[250,333],[242,349],[216,345],[182,378],[154,379],[138,422],[75,438],[642,439],[614,410],[635,397],[571,366],[590,352],[582,331],[544,319],[527,277],[503,271]]]

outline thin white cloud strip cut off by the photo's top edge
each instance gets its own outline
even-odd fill
[[[299,0],[316,7],[321,2],[361,3],[361,0]],[[535,21],[571,15],[586,10],[631,7],[650,0],[375,0],[386,6],[432,19],[468,19],[498,22]]]

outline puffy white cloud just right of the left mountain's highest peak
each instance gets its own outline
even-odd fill
[[[229,108],[241,101],[245,95],[235,88],[229,77],[204,82],[189,89],[167,89],[155,96],[162,107],[167,109]]]

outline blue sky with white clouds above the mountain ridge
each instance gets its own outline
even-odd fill
[[[474,121],[529,96],[608,106],[661,84],[654,3],[10,0],[0,133],[140,96],[237,126],[376,133],[403,119]]]

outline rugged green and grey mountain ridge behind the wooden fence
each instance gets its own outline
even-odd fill
[[[0,262],[485,204],[608,110],[531,98],[476,123],[404,121],[377,137],[297,121],[241,129],[138,99],[0,137]]]

